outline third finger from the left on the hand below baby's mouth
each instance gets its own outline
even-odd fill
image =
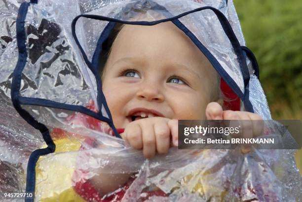
[[[170,147],[170,129],[167,122],[159,121],[154,124],[156,151],[158,154],[168,153]]]

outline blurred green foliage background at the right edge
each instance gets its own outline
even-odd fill
[[[233,1],[273,119],[302,121],[302,0]],[[302,174],[302,149],[296,162]]]

